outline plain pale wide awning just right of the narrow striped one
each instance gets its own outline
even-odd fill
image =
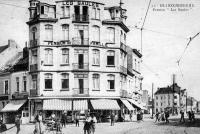
[[[90,102],[95,110],[120,110],[116,100],[97,99],[90,100]]]

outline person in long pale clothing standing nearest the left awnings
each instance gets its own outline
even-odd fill
[[[43,115],[42,115],[41,111],[39,112],[39,114],[36,115],[35,121],[36,122],[35,122],[34,134],[42,134],[42,133],[44,133]]]

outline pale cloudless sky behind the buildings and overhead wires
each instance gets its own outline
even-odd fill
[[[114,6],[120,0],[96,1]],[[152,83],[155,92],[158,87],[172,84],[172,74],[176,74],[178,85],[187,89],[188,95],[200,100],[200,35],[190,42],[183,54],[189,38],[200,32],[200,1],[151,0],[142,43],[141,31],[135,27],[141,28],[149,0],[123,0],[123,3],[123,8],[127,9],[126,24],[131,30],[127,45],[141,52],[142,44],[143,89],[151,94]],[[172,7],[172,4],[176,6]],[[181,11],[177,7],[180,4]],[[186,4],[192,4],[192,7]],[[0,45],[14,39],[22,48],[25,46],[28,41],[28,26],[25,23],[29,19],[28,6],[28,0],[0,0]],[[177,61],[182,54],[178,66]]]

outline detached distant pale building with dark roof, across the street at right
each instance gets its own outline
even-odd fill
[[[163,88],[158,88],[155,92],[154,110],[155,112],[162,112],[169,109],[172,113],[178,114],[180,111],[180,90],[181,88],[175,83],[173,85]]]

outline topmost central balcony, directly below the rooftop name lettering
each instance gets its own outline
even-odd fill
[[[73,14],[74,23],[89,23],[89,15]]]

